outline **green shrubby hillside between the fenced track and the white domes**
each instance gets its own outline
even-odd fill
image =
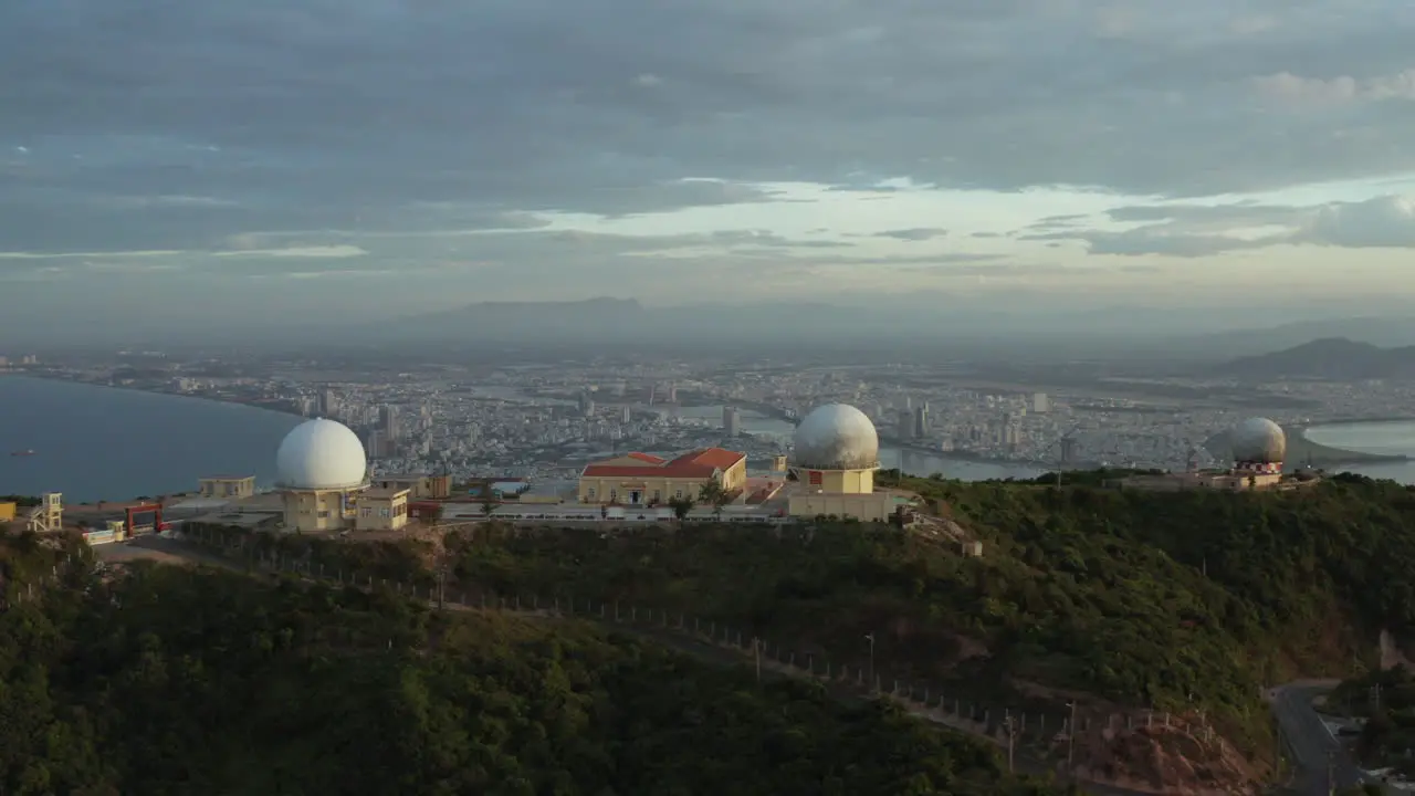
[[[1107,489],[1099,474],[1060,490],[882,474],[891,479],[983,541],[983,555],[862,524],[780,538],[746,527],[481,531],[453,545],[451,574],[467,588],[681,610],[852,666],[873,635],[891,676],[1012,700],[1010,687],[1040,683],[1201,708],[1251,742],[1269,737],[1262,687],[1348,673],[1374,653],[1377,629],[1415,627],[1415,491],[1391,482],[1234,494]],[[432,579],[413,545],[316,555]]]

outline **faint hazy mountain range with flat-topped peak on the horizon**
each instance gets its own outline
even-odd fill
[[[501,346],[717,346],[723,351],[764,348],[828,353],[855,344],[900,353],[951,351],[976,358],[1043,360],[1111,356],[1221,361],[1257,356],[1293,340],[1344,337],[1374,344],[1415,344],[1415,319],[1354,317],[1289,323],[1268,329],[1194,333],[1196,320],[1177,309],[1109,307],[1071,310],[1064,305],[1002,312],[938,295],[889,302],[780,300],[645,307],[634,299],[580,302],[487,302],[374,324],[385,343]],[[364,329],[369,330],[368,327]]]

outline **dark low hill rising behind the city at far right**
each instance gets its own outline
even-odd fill
[[[1282,351],[1240,357],[1214,368],[1215,374],[1249,378],[1415,378],[1415,346],[1381,348],[1346,337],[1324,337]]]

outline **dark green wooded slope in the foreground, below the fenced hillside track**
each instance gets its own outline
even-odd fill
[[[18,588],[59,565],[41,598]],[[982,742],[573,622],[0,538],[0,793],[1046,795]]]

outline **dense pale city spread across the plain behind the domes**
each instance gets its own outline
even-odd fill
[[[359,433],[378,474],[522,477],[548,490],[565,490],[584,463],[614,452],[729,445],[764,465],[788,452],[799,416],[828,402],[870,416],[886,467],[890,452],[908,452],[925,463],[944,457],[1022,472],[1206,467],[1224,452],[1204,443],[1255,411],[1302,428],[1402,418],[1415,398],[1415,387],[1394,381],[1245,387],[1176,377],[1058,388],[901,364],[408,365],[355,375],[318,361],[175,361],[147,353],[75,363],[20,356],[0,367],[333,418]]]

